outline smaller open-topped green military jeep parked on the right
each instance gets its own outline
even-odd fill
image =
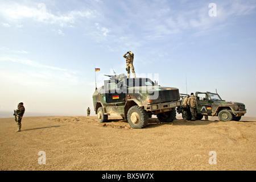
[[[220,121],[240,121],[241,117],[246,113],[244,104],[226,102],[217,93],[196,92],[195,97],[197,97],[197,119],[202,119],[204,115],[210,115],[218,116]],[[177,108],[177,113],[181,113],[181,109],[182,106]],[[186,118],[190,120],[190,110],[187,113]]]

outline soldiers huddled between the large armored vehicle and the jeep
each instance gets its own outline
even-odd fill
[[[188,109],[190,109],[191,111],[191,121],[196,121],[196,116],[197,116],[197,108],[196,108],[196,103],[197,103],[197,98],[194,96],[194,93],[191,93],[190,97],[186,96],[182,102],[182,115],[183,115],[183,119],[186,120],[187,119],[187,115],[188,115]],[[205,115],[205,120],[208,120],[208,116]]]

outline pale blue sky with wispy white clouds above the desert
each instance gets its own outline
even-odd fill
[[[1,1],[0,110],[85,114],[94,65],[100,86],[112,67],[126,73],[132,51],[137,77],[180,93],[217,89],[256,117],[255,19],[254,0]]]

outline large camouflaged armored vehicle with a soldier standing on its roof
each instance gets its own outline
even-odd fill
[[[180,106],[179,89],[159,86],[150,78],[127,78],[125,74],[110,75],[104,86],[93,93],[93,105],[98,121],[109,115],[123,117],[130,126],[146,127],[148,117],[156,115],[159,121],[172,122],[176,106]]]

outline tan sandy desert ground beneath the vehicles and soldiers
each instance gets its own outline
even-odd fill
[[[256,118],[209,119],[151,118],[146,128],[131,129],[118,117],[24,117],[15,133],[14,118],[2,118],[0,170],[255,170]],[[38,163],[39,151],[46,164]],[[209,164],[210,151],[216,164]]]

